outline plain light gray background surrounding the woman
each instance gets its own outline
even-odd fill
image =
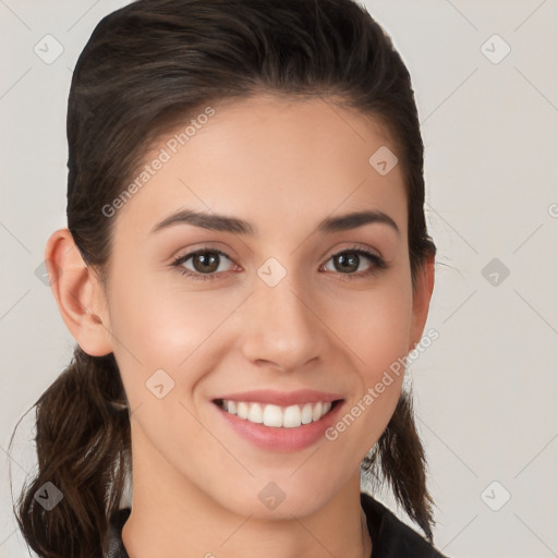
[[[0,0],[0,557],[28,555],[8,462],[19,486],[34,468],[33,414],[12,458],[10,435],[73,347],[35,276],[48,235],[65,226],[72,69],[98,21],[125,3]],[[426,148],[438,246],[426,329],[440,337],[410,374],[435,542],[454,558],[558,556],[558,1],[366,7],[408,63]],[[64,49],[51,64],[34,52],[47,34]],[[486,43],[494,34],[511,48],[498,63],[505,45]],[[497,284],[495,269],[483,275],[493,258]]]

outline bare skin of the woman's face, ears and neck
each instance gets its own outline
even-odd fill
[[[64,323],[88,354],[114,353],[132,410],[124,545],[131,558],[184,558],[185,548],[219,558],[369,557],[359,465],[395,411],[402,375],[335,441],[293,452],[241,438],[211,399],[312,388],[341,393],[350,409],[420,341],[434,263],[413,293],[401,165],[380,175],[368,163],[380,146],[397,149],[378,123],[323,99],[258,95],[214,108],[112,217],[107,291],[68,229],[46,248],[58,266],[51,288]],[[192,225],[150,233],[184,207],[242,218],[259,235]],[[363,209],[386,213],[400,233],[381,223],[313,233],[326,217]],[[343,280],[332,256],[355,243],[388,268],[365,277],[374,263],[362,256]],[[207,246],[228,255],[215,279],[171,266]],[[274,288],[257,275],[269,257],[287,271]],[[193,258],[182,267],[199,272]],[[175,383],[162,399],[145,386],[158,368]],[[275,510],[258,499],[269,482],[286,494]]]

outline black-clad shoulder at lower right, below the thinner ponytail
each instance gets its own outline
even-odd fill
[[[448,558],[371,495],[361,493],[361,506],[373,543],[371,558]]]

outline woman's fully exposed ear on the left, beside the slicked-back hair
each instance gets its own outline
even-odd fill
[[[92,356],[112,352],[102,284],[83,260],[69,229],[51,234],[45,248],[45,265],[62,319],[77,344]]]

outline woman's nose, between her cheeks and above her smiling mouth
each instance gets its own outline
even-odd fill
[[[239,308],[235,324],[244,359],[281,372],[294,372],[324,359],[328,329],[308,289],[290,274],[275,287],[254,281],[254,289]]]

